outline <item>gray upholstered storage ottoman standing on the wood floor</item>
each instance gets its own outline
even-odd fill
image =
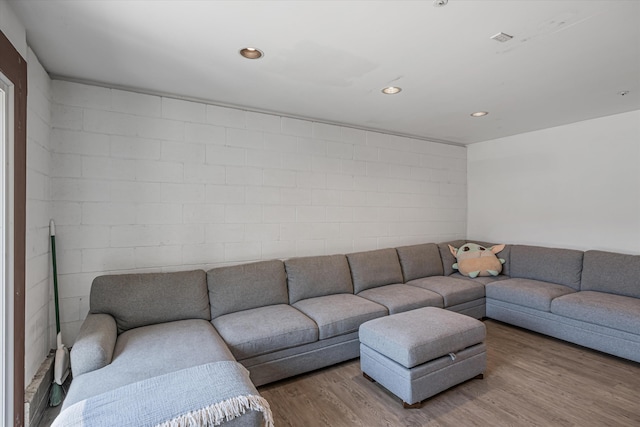
[[[405,408],[482,378],[487,364],[484,323],[436,307],[370,320],[359,335],[363,375],[400,397]]]

